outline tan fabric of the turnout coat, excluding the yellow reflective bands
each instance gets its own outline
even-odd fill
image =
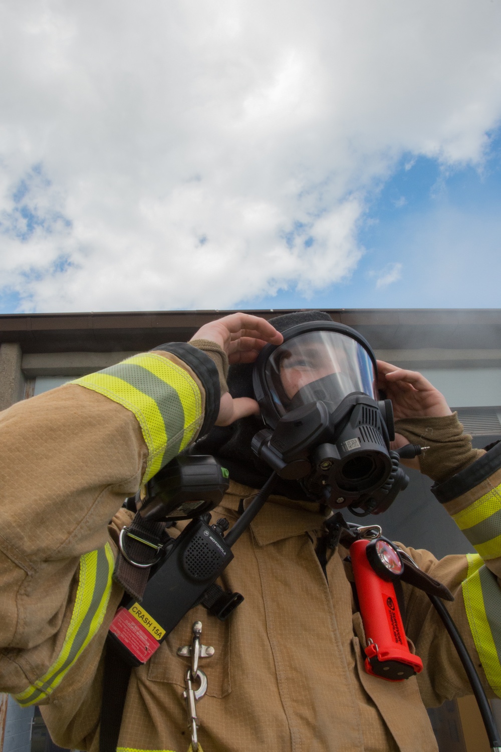
[[[140,484],[147,449],[134,414],[68,385],[0,414],[0,453],[0,689],[26,696],[68,637],[81,557],[107,543],[116,556],[117,531],[128,521],[120,507]],[[233,524],[240,499],[253,493],[232,483],[213,517]],[[243,605],[225,622],[195,608],[152,660],[134,669],[121,749],[186,752],[187,664],[177,647],[189,643],[196,619],[202,642],[216,650],[201,662],[208,678],[198,705],[204,752],[437,749],[425,705],[470,692],[448,635],[427,596],[404,586],[406,629],[424,672],[401,683],[367,675],[346,550],[331,556],[327,580],[315,555],[322,523],[315,505],[267,502],[222,578],[243,593]],[[426,551],[411,553],[457,596],[450,609],[479,664],[460,594],[466,556],[437,561]],[[63,747],[98,750],[103,646],[122,597],[117,584],[108,590],[92,640],[50,694],[39,696]]]

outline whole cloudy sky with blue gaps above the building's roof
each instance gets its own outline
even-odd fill
[[[0,311],[501,306],[501,0],[0,0]]]

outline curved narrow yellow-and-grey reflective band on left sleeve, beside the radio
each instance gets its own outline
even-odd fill
[[[47,673],[14,699],[25,708],[52,693],[94,637],[106,613],[115,561],[110,544],[80,556],[77,596],[62,650]]]

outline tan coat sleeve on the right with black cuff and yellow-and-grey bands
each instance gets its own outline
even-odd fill
[[[432,487],[477,553],[437,561],[409,550],[418,566],[446,584],[446,603],[490,696],[501,697],[501,443],[472,465]],[[405,586],[407,632],[424,660],[418,678],[425,705],[471,693],[447,632],[423,593]]]

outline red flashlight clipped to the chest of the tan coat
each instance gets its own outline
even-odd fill
[[[388,541],[358,540],[350,546],[355,587],[367,647],[365,670],[388,681],[403,681],[423,670],[421,658],[411,653],[403,629],[394,581],[403,562]]]

